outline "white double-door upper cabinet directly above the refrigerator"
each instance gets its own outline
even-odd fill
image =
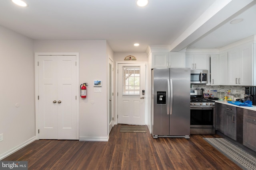
[[[185,67],[184,52],[152,52],[151,68]]]

